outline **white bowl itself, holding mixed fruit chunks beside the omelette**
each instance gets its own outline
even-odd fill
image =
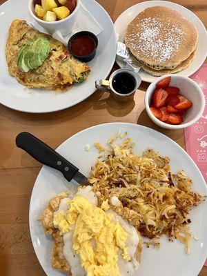
[[[72,31],[72,28],[75,26],[75,22],[76,22],[79,7],[80,7],[80,2],[81,0],[77,0],[77,5],[75,7],[75,10],[72,12],[72,14],[69,14],[68,17],[62,20],[54,21],[54,22],[43,21],[38,17],[36,17],[36,15],[34,14],[34,0],[29,1],[28,8],[29,8],[31,17],[37,23],[39,23],[39,25],[41,25],[43,28],[48,30],[50,34],[54,34],[59,30],[63,36],[66,36],[70,34],[70,32]]]

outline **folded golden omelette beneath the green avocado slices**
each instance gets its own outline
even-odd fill
[[[24,62],[19,59],[23,52],[22,49],[30,45],[31,41],[34,44],[34,41],[38,39],[43,43],[48,41],[48,52],[44,52],[40,56],[43,59],[39,59],[38,55],[33,55],[35,66],[29,66],[28,70],[22,70],[22,66],[19,66],[19,60],[21,63]],[[39,50],[41,51],[43,48],[39,47]],[[28,54],[31,54],[31,51]],[[28,57],[31,58],[30,55]],[[86,63],[72,57],[63,43],[53,39],[49,34],[34,30],[26,21],[19,19],[12,21],[10,26],[6,43],[6,60],[10,75],[27,88],[67,90],[73,83],[84,81],[90,72]],[[25,64],[23,63],[23,65]]]

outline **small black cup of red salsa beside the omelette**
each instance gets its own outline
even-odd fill
[[[79,61],[91,61],[98,47],[98,39],[95,34],[88,31],[77,32],[68,41],[68,50]]]

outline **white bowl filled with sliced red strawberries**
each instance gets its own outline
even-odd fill
[[[181,75],[165,75],[148,87],[145,106],[150,119],[158,126],[186,128],[201,117],[205,97],[192,79]]]

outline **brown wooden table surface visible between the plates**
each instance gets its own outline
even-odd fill
[[[0,4],[3,2],[0,0]],[[121,12],[141,1],[98,2],[115,21]],[[207,26],[206,0],[174,2],[195,12]],[[16,148],[14,139],[17,134],[21,131],[32,132],[52,148],[56,148],[84,128],[123,121],[155,128],[184,147],[182,130],[158,128],[148,118],[144,110],[144,91],[147,87],[147,83],[142,83],[141,90],[132,103],[119,104],[103,92],[95,92],[75,107],[43,115],[26,114],[0,106],[0,275],[45,275],[32,248],[28,225],[30,195],[41,165]],[[204,275],[207,276],[207,268],[199,273],[199,276]]]

